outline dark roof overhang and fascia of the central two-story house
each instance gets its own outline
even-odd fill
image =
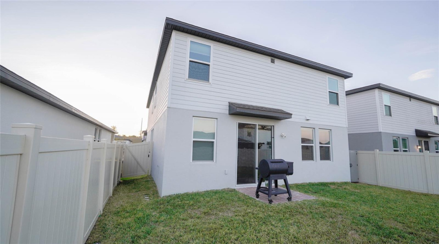
[[[163,60],[166,54],[166,49],[168,48],[169,41],[171,40],[171,34],[172,31],[180,31],[184,32],[193,36],[198,36],[201,38],[205,38],[212,41],[217,41],[220,43],[224,43],[227,45],[231,45],[234,47],[238,47],[241,49],[245,49],[251,52],[259,53],[265,56],[269,56],[272,58],[276,58],[279,60],[287,61],[296,63],[305,67],[309,67],[312,69],[320,70],[329,74],[337,75],[340,77],[343,77],[345,79],[351,78],[352,73],[336,69],[318,62],[302,59],[300,57],[287,54],[284,52],[280,52],[275,49],[271,49],[268,47],[264,47],[249,41],[243,41],[238,38],[234,38],[231,36],[227,36],[215,31],[211,31],[208,29],[204,29],[192,24],[188,24],[185,22],[181,22],[179,20],[174,20],[171,18],[166,18],[164,27],[163,27],[163,33],[161,34],[161,41],[160,41],[160,48],[159,53],[157,54],[157,61],[156,61],[156,68],[154,69],[154,75],[151,82],[151,89],[149,90],[149,97],[148,97],[148,103],[146,105],[147,108],[149,108],[149,105],[151,103],[152,94],[154,92],[154,89],[156,87],[157,79],[159,79],[160,69],[161,65],[163,64]]]

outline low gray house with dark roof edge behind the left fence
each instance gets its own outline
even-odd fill
[[[44,137],[83,140],[94,135],[98,142],[113,141],[117,131],[1,65],[0,72],[1,133],[11,133],[13,123],[34,123],[43,127]]]

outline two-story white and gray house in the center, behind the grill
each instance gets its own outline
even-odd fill
[[[266,158],[295,163],[290,183],[350,181],[350,77],[167,18],[147,102],[160,196],[256,185]]]

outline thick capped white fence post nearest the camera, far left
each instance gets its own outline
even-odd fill
[[[24,151],[20,156],[10,243],[29,242],[29,218],[32,215],[41,130],[42,126],[37,124],[12,124],[12,134],[26,135],[26,138],[24,140]]]

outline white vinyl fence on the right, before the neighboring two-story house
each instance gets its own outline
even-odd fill
[[[359,182],[439,194],[439,154],[358,151]]]

